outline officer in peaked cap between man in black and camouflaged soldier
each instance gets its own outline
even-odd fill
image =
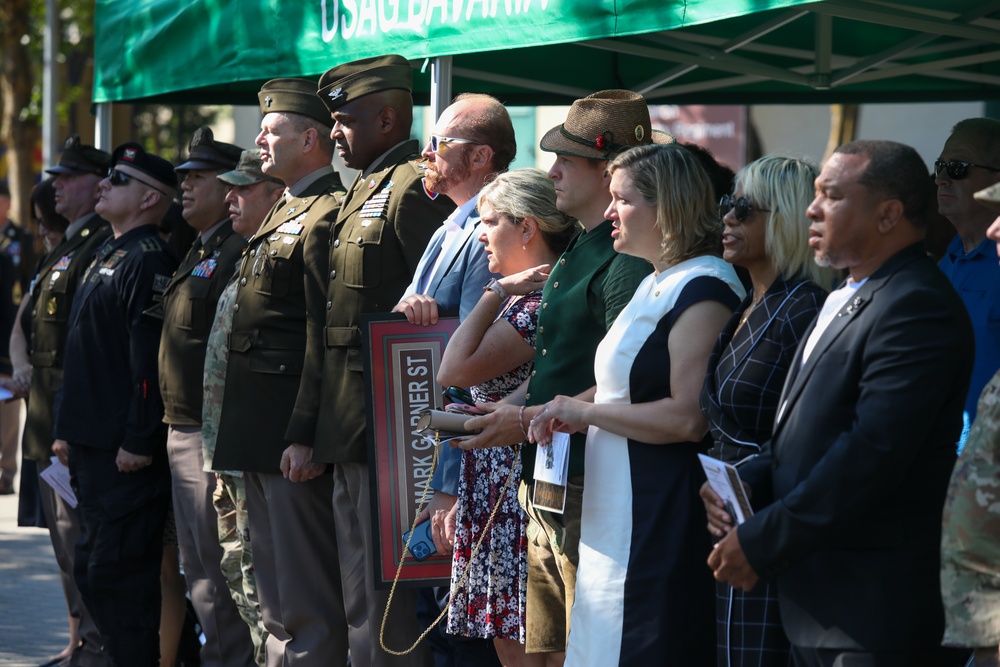
[[[217,141],[209,127],[191,138],[181,179],[184,220],[198,232],[163,294],[160,393],[168,425],[177,543],[184,580],[205,635],[201,664],[252,665],[253,643],[222,573],[222,547],[212,505],[215,475],[205,472],[201,411],[205,347],[215,306],[236,270],[246,240],[233,231],[226,193],[216,178],[236,166],[243,149]]]

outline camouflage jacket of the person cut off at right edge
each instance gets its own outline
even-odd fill
[[[945,645],[1000,643],[1000,372],[951,476],[941,539]]]

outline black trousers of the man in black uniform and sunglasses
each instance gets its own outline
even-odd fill
[[[104,648],[118,667],[160,660],[160,563],[170,504],[166,451],[118,472],[117,450],[70,445],[81,532],[74,577]]]

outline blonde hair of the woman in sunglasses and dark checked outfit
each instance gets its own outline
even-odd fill
[[[836,274],[816,264],[809,247],[806,209],[813,200],[813,182],[818,175],[819,168],[812,162],[768,155],[740,169],[735,187],[760,215],[767,216],[764,252],[778,275],[785,280],[812,280],[830,289]]]

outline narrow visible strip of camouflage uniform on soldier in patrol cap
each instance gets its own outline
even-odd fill
[[[227,341],[233,327],[233,303],[236,300],[236,276],[219,297],[215,321],[208,336],[205,355],[204,403],[202,408],[202,442],[205,470],[212,470],[212,458],[219,434],[222,396],[226,386]],[[246,486],[242,473],[220,472],[212,502],[219,515],[219,543],[222,545],[222,573],[229,584],[229,593],[236,602],[240,616],[250,627],[254,661],[264,667],[264,642],[267,630],[260,616],[257,584],[250,550],[250,521],[247,517]]]

